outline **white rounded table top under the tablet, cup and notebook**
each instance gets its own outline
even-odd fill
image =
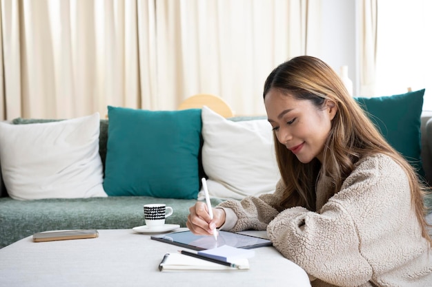
[[[160,272],[164,254],[179,246],[150,235],[118,229],[99,230],[99,237],[85,240],[26,237],[0,249],[0,286],[311,286],[304,270],[273,247],[255,248],[250,270]]]

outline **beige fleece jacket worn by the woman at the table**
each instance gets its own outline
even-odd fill
[[[406,174],[395,161],[384,155],[360,160],[342,189],[323,202],[327,184],[325,177],[317,182],[317,212],[277,211],[282,182],[273,194],[219,207],[231,209],[230,231],[266,230],[314,287],[432,286],[432,251],[411,208]]]

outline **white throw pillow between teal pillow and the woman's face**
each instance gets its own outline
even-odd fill
[[[267,120],[233,122],[204,106],[202,136],[210,197],[241,200],[275,191],[280,173]],[[204,199],[204,191],[199,191],[198,199]]]

